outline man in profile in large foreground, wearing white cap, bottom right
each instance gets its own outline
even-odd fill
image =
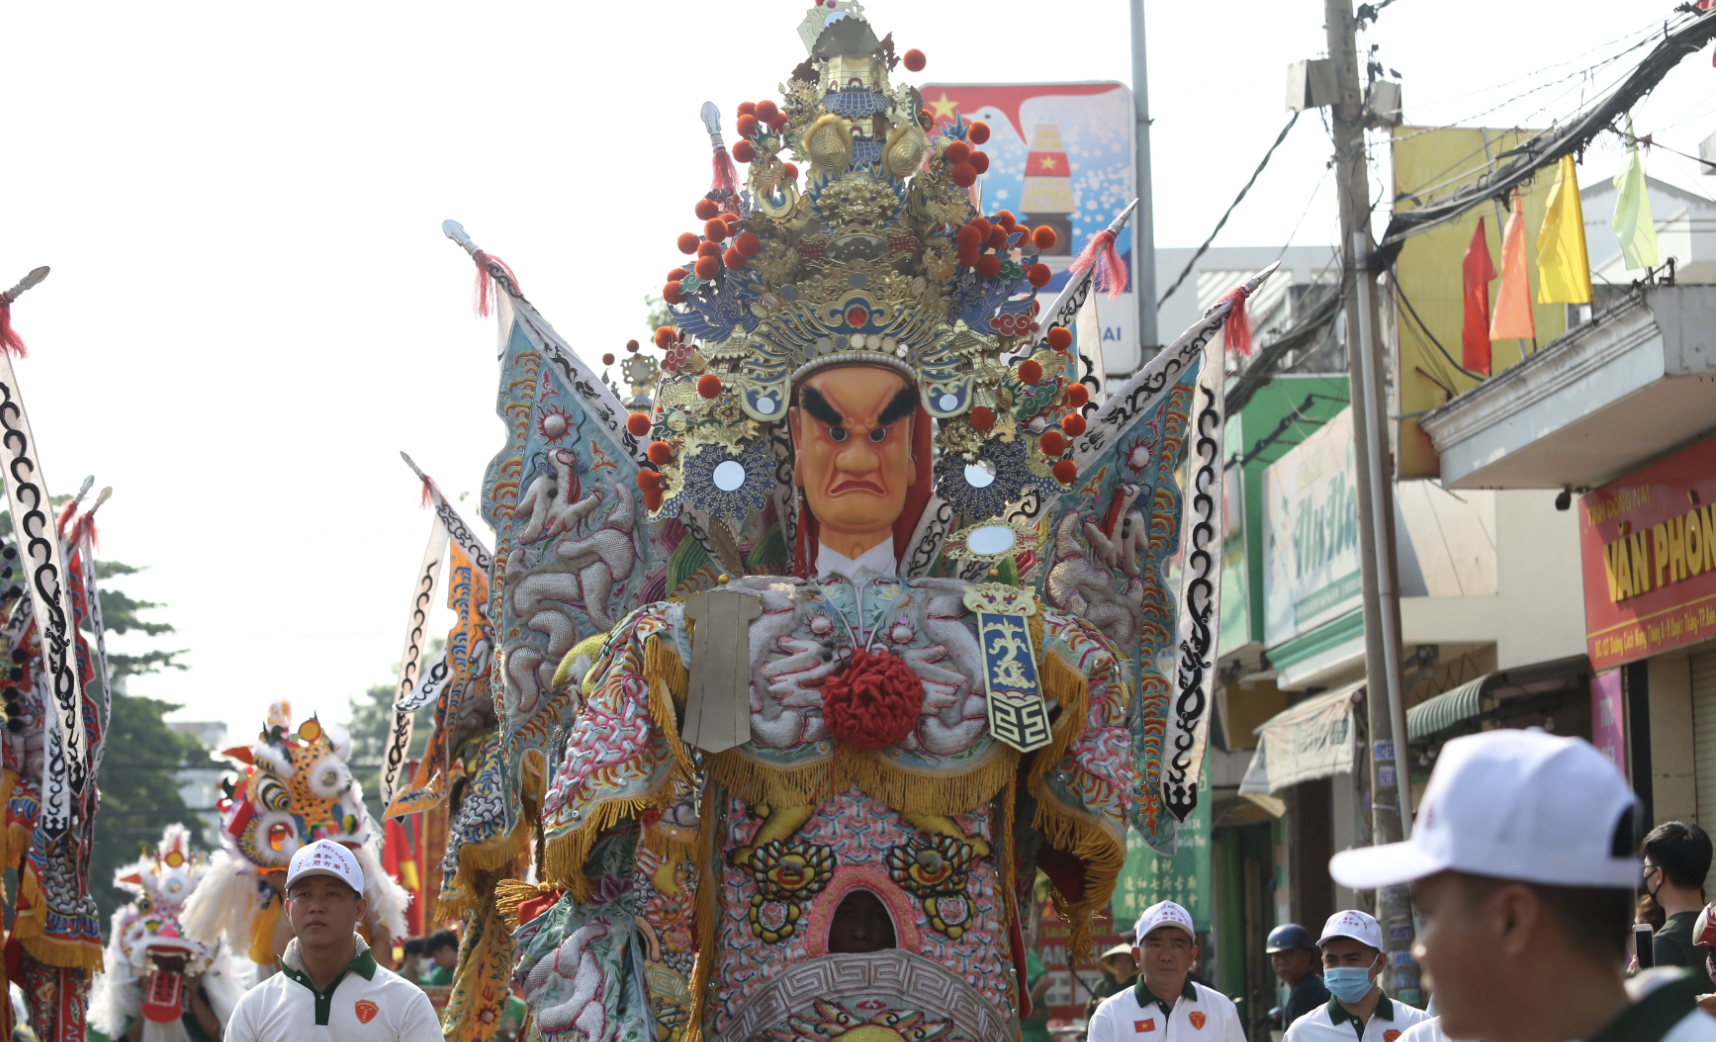
[[[1443,747],[1411,839],[1328,869],[1352,889],[1412,884],[1412,954],[1453,1039],[1716,1040],[1685,970],[1625,982],[1637,814],[1589,743],[1484,731]]]

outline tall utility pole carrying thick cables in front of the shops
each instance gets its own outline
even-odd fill
[[[1364,158],[1364,94],[1359,91],[1357,26],[1352,0],[1323,0],[1328,57],[1335,72],[1335,180],[1340,187],[1342,292],[1347,309],[1347,374],[1357,463],[1359,558],[1364,584],[1364,673],[1369,716],[1371,841],[1397,843],[1411,824],[1400,692],[1400,584],[1395,575],[1393,484],[1383,357],[1375,342],[1375,288],[1366,271],[1371,192]],[[1399,731],[1399,733],[1397,733]],[[1405,785],[1405,791],[1402,791]],[[1421,1003],[1412,961],[1412,903],[1404,886],[1376,893],[1388,965],[1383,985],[1404,1003]]]

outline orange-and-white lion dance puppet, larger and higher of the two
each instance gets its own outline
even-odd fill
[[[225,750],[245,764],[221,807],[221,843],[208,877],[185,906],[185,934],[214,944],[223,934],[273,972],[292,939],[280,915],[287,865],[300,846],[335,839],[357,853],[364,867],[369,915],[364,937],[378,953],[405,936],[410,896],[381,867],[381,833],[364,809],[364,793],[347,767],[350,738],[311,718],[292,731],[292,709],[276,702],[268,728],[254,745]]]

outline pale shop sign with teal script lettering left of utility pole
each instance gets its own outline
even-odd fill
[[[1263,642],[1340,618],[1363,599],[1352,410],[1263,472]]]

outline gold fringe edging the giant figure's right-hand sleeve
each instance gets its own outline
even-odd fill
[[[1109,903],[1114,886],[1126,863],[1124,838],[1117,838],[1103,819],[1062,803],[1043,779],[1066,757],[1072,743],[1085,735],[1090,714],[1090,687],[1081,673],[1059,654],[1043,654],[1043,694],[1060,706],[1060,719],[1047,748],[1036,752],[1026,776],[1026,790],[1036,800],[1031,827],[1043,834],[1043,843],[1085,863],[1085,894],[1079,901],[1055,901],[1066,913],[1067,954],[1076,961],[1090,961],[1091,915]]]

